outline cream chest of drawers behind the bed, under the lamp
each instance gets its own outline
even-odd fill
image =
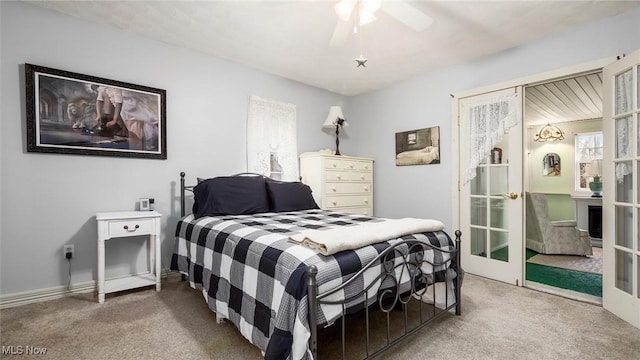
[[[373,216],[373,159],[305,153],[300,175],[320,208]]]

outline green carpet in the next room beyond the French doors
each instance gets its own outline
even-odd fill
[[[529,260],[537,254],[527,249],[525,256]],[[496,260],[507,261],[508,256],[507,247],[491,253],[491,258]],[[530,263],[526,263],[526,271],[527,280],[602,297],[602,275]]]

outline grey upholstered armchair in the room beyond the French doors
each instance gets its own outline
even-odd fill
[[[589,232],[578,229],[576,222],[551,221],[544,194],[527,193],[528,249],[541,254],[592,255]]]

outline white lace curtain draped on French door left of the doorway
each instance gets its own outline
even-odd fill
[[[462,184],[476,177],[476,167],[486,159],[504,134],[518,124],[520,107],[513,90],[500,91],[463,103],[460,114]]]

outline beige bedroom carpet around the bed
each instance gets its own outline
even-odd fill
[[[47,349],[46,356],[2,358],[261,358],[233,325],[216,323],[199,292],[175,276],[163,279],[163,286],[159,293],[142,289],[111,295],[102,305],[87,294],[2,310],[5,349]],[[633,359],[640,352],[640,330],[601,307],[473,275],[465,277],[463,291],[462,316],[434,322],[382,358]],[[334,335],[325,335],[321,359],[334,359],[339,344]],[[362,344],[358,336],[351,330],[350,343]]]

